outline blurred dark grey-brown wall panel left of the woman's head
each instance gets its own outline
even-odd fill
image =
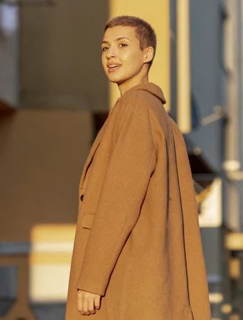
[[[31,1],[20,7],[20,105],[106,110],[101,66],[107,1]]]

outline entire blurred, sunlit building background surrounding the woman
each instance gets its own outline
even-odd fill
[[[184,134],[212,320],[243,319],[242,0],[0,1],[0,319],[64,319],[78,182],[117,99],[109,17],[158,35],[150,81]]]

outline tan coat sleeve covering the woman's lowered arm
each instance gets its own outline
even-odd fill
[[[103,296],[156,167],[156,150],[148,123],[136,115],[119,120],[115,146],[103,180],[85,250],[77,289]]]

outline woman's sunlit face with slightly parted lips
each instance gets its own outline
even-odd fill
[[[108,79],[118,85],[140,74],[147,62],[145,51],[135,37],[135,28],[115,26],[106,29],[101,44],[102,65]]]

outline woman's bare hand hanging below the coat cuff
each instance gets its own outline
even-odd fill
[[[78,311],[83,315],[95,314],[101,305],[101,296],[78,289]]]

